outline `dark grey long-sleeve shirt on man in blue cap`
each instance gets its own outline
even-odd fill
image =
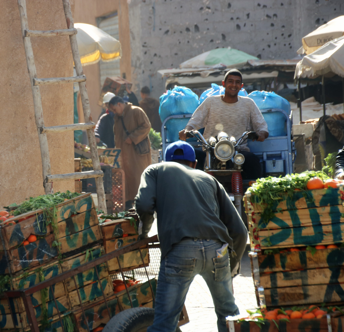
[[[176,162],[153,164],[141,176],[135,198],[142,236],[157,211],[161,258],[184,237],[220,239],[234,249],[231,268],[244,254],[247,230],[223,186],[213,176]]]

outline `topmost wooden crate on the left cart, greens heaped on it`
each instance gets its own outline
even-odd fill
[[[101,241],[98,217],[89,193],[58,204],[56,208],[55,222],[61,254],[73,255]],[[55,235],[50,224],[45,227],[42,210],[25,213],[9,221],[17,223],[4,226],[1,231],[12,274],[20,274],[23,269],[56,259]],[[30,234],[36,235],[37,241],[23,246],[22,242]],[[0,244],[0,261],[3,262],[0,264],[0,274],[8,274],[10,271],[3,249]]]

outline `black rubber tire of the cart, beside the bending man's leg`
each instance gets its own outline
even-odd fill
[[[145,332],[153,320],[154,309],[131,308],[112,317],[102,332]],[[178,326],[175,331],[181,332]]]

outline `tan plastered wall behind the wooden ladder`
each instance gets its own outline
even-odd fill
[[[71,1],[74,7],[74,1]],[[65,29],[61,1],[27,1],[29,29]],[[44,194],[42,163],[34,119],[32,92],[26,67],[16,0],[1,2],[0,20],[0,208]],[[32,38],[37,77],[73,76],[67,36]],[[73,123],[73,85],[40,88],[46,126]],[[53,174],[74,172],[73,132],[49,134]],[[74,191],[74,181],[56,182],[56,191]]]

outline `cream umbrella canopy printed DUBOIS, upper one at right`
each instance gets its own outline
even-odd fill
[[[318,29],[315,29],[307,36],[304,36],[302,38],[303,51],[306,54],[310,54],[327,42],[339,38],[343,35],[344,15],[336,17],[326,24],[319,26]],[[301,50],[299,50],[298,52],[300,51]]]

